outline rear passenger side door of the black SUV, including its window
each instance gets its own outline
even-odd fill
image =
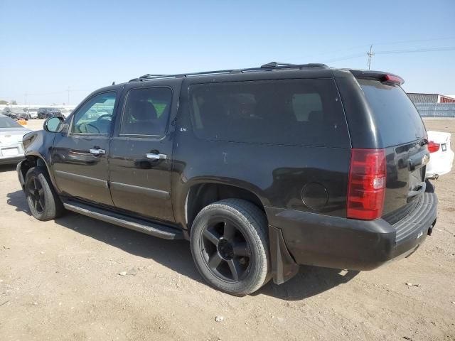
[[[173,220],[173,127],[169,121],[177,102],[178,90],[173,86],[140,82],[127,85],[109,152],[109,185],[119,209],[152,219]]]

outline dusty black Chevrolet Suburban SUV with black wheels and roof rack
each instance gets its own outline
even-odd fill
[[[38,220],[66,209],[188,239],[205,280],[235,295],[299,264],[375,269],[437,218],[402,82],[322,64],[144,75],[27,134],[18,177]]]

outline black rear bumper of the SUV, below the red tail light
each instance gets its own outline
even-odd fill
[[[424,242],[436,223],[437,202],[436,194],[424,193],[415,210],[395,224],[272,207],[266,212],[296,264],[371,270],[412,254]]]

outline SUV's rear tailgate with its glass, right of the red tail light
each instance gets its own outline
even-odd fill
[[[399,85],[378,80],[358,82],[385,148],[387,188],[383,215],[387,219],[389,214],[393,223],[412,210],[425,191],[427,135],[417,109]]]

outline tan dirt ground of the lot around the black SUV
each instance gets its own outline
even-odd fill
[[[455,119],[425,123],[455,136]],[[301,266],[237,298],[205,285],[188,242],[73,213],[38,222],[0,166],[0,340],[455,340],[455,171],[435,184],[437,225],[410,258]]]

